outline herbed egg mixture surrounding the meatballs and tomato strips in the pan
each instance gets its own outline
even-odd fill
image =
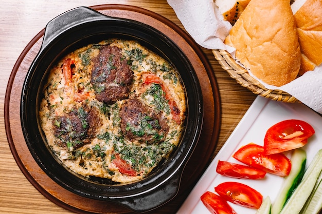
[[[106,105],[95,99],[95,90],[91,84],[93,68],[91,59],[99,54],[100,45],[119,47],[124,59],[130,63],[134,79],[129,99],[137,98],[155,109],[155,98],[147,93],[151,84],[146,86],[144,77],[147,74],[153,74],[162,80],[164,88],[169,93],[168,96],[175,101],[180,110],[181,119],[178,124],[173,120],[171,112],[158,110],[162,112],[162,116],[166,118],[169,126],[169,131],[162,142],[142,144],[125,139],[120,128],[119,110],[126,100]],[[75,65],[69,84],[66,84],[62,69],[66,59],[70,59]],[[109,178],[122,183],[140,180],[146,177],[160,161],[166,159],[180,142],[186,111],[186,95],[180,76],[166,60],[135,41],[113,39],[103,41],[99,45],[91,44],[67,54],[56,66],[51,68],[43,94],[44,98],[40,103],[39,115],[46,141],[57,159],[66,168],[81,176]],[[55,124],[53,120],[57,116],[66,115],[83,105],[97,109],[102,125],[97,128],[96,135],[90,143],[77,148],[62,144],[53,131],[53,124]],[[169,108],[168,103],[164,105]],[[119,157],[137,172],[135,176],[120,172],[113,163],[115,153],[118,153]]]

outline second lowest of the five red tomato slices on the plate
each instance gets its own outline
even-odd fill
[[[261,193],[245,184],[224,182],[214,187],[223,199],[244,207],[258,209],[263,201]]]

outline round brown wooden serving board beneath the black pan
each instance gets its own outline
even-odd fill
[[[216,147],[221,123],[219,89],[212,68],[201,48],[180,27],[154,12],[126,5],[99,5],[93,9],[114,17],[129,18],[150,25],[166,34],[188,56],[195,69],[204,99],[204,123],[200,140],[186,165],[177,196],[168,203],[182,204],[191,188],[206,169]],[[78,196],[51,180],[38,166],[25,143],[20,121],[20,100],[26,73],[37,55],[44,30],[38,33],[21,53],[13,67],[5,99],[5,127],[13,157],[29,182],[53,203],[77,213],[132,213],[130,210],[105,201]],[[37,127],[35,127],[37,128]],[[27,200],[27,199],[26,199]],[[179,207],[177,207],[179,208]],[[167,205],[157,208],[164,213]]]

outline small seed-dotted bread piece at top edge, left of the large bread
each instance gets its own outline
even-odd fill
[[[216,0],[215,4],[218,6],[219,12],[223,15],[224,20],[230,22],[231,25],[234,25],[250,1],[251,0]]]

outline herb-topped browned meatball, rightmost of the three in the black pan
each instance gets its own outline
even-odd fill
[[[124,137],[139,143],[159,143],[169,131],[161,112],[154,112],[138,99],[129,99],[120,109]]]

